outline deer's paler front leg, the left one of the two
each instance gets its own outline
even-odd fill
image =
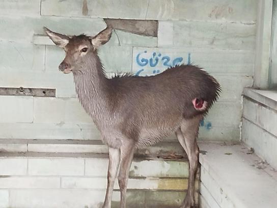
[[[115,179],[117,176],[117,170],[120,162],[120,149],[108,148],[108,184],[106,190],[105,201],[102,208],[112,207],[112,195],[115,184]]]

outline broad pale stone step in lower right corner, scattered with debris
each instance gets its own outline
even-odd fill
[[[274,208],[277,172],[243,145],[202,143],[202,208]]]

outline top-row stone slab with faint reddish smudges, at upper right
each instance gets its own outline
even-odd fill
[[[257,7],[257,0],[151,0],[146,19],[254,23]]]

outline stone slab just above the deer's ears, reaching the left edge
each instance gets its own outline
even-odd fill
[[[65,35],[85,33],[90,36],[106,28],[103,19],[69,18],[44,16],[1,16],[0,41],[27,42],[33,41],[33,35],[45,35],[43,27]],[[20,31],[20,33],[18,32]]]

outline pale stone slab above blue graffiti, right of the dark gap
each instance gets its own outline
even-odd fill
[[[158,46],[254,50],[256,25],[229,22],[159,21]]]

